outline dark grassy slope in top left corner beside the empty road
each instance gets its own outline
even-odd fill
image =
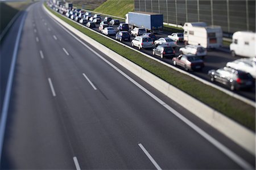
[[[19,12],[24,10],[29,1],[22,2],[0,2],[0,34],[9,24],[11,19]]]

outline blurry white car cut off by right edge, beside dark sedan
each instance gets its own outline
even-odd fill
[[[255,58],[240,58],[235,61],[226,63],[227,67],[231,67],[236,70],[242,70],[246,73],[250,73],[255,79],[256,77],[256,59]]]

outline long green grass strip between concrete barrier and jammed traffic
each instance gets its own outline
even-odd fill
[[[234,99],[233,97],[226,95],[224,92],[216,90],[213,87],[209,87],[206,84],[191,78],[190,76],[184,75],[171,69],[170,67],[162,65],[153,59],[147,58],[146,56],[126,48],[117,42],[98,35],[89,29],[83,28],[81,25],[73,23],[65,16],[57,14],[55,11],[51,10],[51,8],[46,5],[46,3],[44,5],[48,8],[49,11],[52,12],[52,14],[64,20],[66,23],[72,25],[72,27],[78,29],[85,35],[100,42],[102,45],[105,45],[114,52],[150,71],[152,74],[186,92],[192,97],[195,97],[196,99],[216,109],[222,114],[225,114],[226,116],[239,122],[243,126],[246,126],[247,128],[255,131],[254,107],[251,107],[250,105],[243,103],[240,100]]]

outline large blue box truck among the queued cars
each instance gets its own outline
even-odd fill
[[[148,32],[162,32],[163,14],[151,12],[128,12],[125,15],[125,23],[129,24],[131,29],[134,27],[146,28]]]

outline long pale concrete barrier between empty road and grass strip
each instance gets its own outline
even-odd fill
[[[106,54],[106,56],[112,58],[127,70],[131,71],[131,73],[137,75],[152,87],[170,97],[170,99],[176,101],[176,103],[180,104],[185,109],[188,109],[188,111],[201,118],[201,120],[207,122],[213,128],[225,134],[227,137],[232,139],[232,141],[236,142],[238,145],[245,148],[245,150],[255,155],[255,133],[253,131],[246,129],[237,122],[210,108],[208,105],[201,103],[201,101],[191,97],[188,94],[185,94],[185,92],[158,78],[158,76],[155,76],[149,71],[144,70],[142,67],[113,52],[106,46],[91,39],[84,33],[78,31],[57,16],[53,15],[46,9],[46,7],[43,6],[43,8],[48,12],[49,15],[52,16],[53,19],[57,20],[57,22],[59,22],[65,28],[69,29],[69,31],[73,32],[75,35],[79,36],[81,39],[85,40],[95,48],[101,49],[101,52]]]

